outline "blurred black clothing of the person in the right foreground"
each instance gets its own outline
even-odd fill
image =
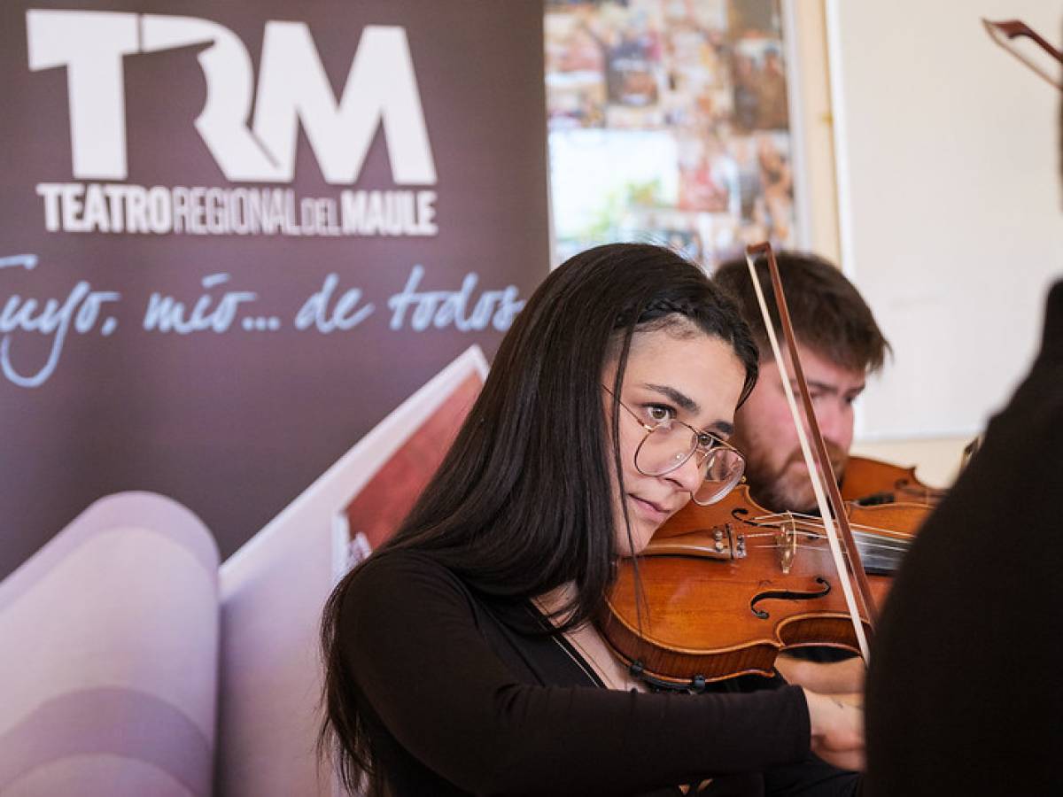
[[[885,604],[867,675],[868,795],[1063,794],[1061,498],[1063,281],[1029,375]]]

